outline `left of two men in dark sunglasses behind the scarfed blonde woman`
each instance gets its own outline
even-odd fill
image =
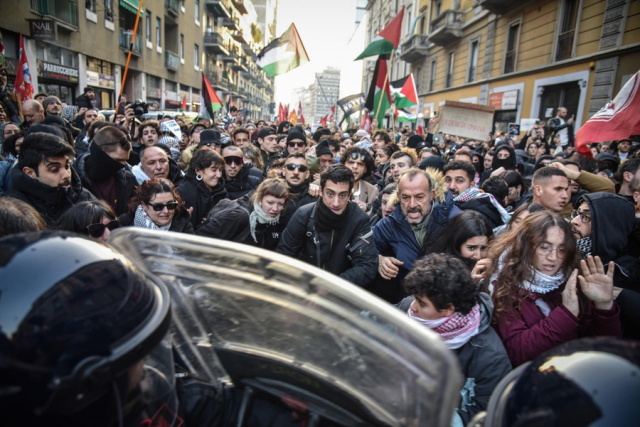
[[[244,164],[240,147],[227,145],[222,149],[224,158],[224,187],[231,200],[239,199],[258,188],[262,182],[262,171],[250,163]]]

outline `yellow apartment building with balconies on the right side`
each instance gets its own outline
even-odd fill
[[[368,37],[402,6],[391,79],[414,73],[424,118],[447,100],[471,102],[495,107],[506,130],[565,106],[579,127],[640,64],[637,1],[374,0]]]

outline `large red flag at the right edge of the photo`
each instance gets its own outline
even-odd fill
[[[588,144],[640,135],[640,71],[576,132],[576,150],[591,157]]]

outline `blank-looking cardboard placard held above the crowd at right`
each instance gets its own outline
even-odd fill
[[[446,101],[440,109],[438,131],[484,141],[491,132],[494,111],[486,105]]]

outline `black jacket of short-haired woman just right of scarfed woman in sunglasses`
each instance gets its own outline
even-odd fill
[[[200,226],[212,207],[228,197],[227,190],[224,188],[224,178],[221,178],[213,191],[210,191],[202,181],[196,179],[196,173],[192,170],[187,172],[184,181],[176,188],[176,192],[182,197],[185,208],[193,208],[191,224],[194,229]]]

